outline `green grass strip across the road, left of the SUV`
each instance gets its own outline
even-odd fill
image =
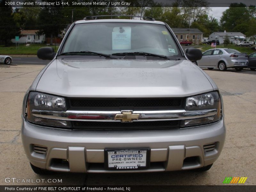
[[[20,44],[19,48],[16,46],[4,47],[0,46],[0,55],[36,55],[37,50],[41,47],[48,47],[46,44],[30,44],[30,46],[26,46],[25,44]],[[51,46],[55,49],[55,46]],[[56,50],[58,50],[59,46],[56,46]]]

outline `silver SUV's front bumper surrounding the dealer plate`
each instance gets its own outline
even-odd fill
[[[62,172],[158,172],[200,168],[220,156],[226,128],[223,118],[212,124],[170,130],[63,130],[22,119],[22,142],[31,164]],[[215,144],[211,151],[204,145]],[[45,154],[34,145],[45,146]],[[105,148],[150,148],[150,166],[144,170],[107,170]],[[190,157],[190,158],[188,158]],[[56,159],[65,160],[65,164]],[[185,160],[185,161],[184,161]]]

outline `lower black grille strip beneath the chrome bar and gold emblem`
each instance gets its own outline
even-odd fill
[[[74,121],[73,129],[172,129],[179,127],[179,123],[179,120],[133,121],[132,123]]]

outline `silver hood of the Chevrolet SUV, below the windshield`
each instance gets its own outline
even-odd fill
[[[53,60],[36,91],[65,97],[186,97],[213,87],[188,60]]]

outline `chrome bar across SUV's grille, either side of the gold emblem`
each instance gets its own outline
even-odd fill
[[[140,114],[138,120],[134,121],[166,121],[166,120],[184,120],[196,119],[201,117],[214,116],[218,112],[217,109],[204,110],[162,110],[162,111],[132,111],[132,113]],[[44,111],[33,109],[31,114],[35,117],[68,120],[68,121],[105,121],[120,122],[115,120],[116,114],[122,114],[122,111]]]

